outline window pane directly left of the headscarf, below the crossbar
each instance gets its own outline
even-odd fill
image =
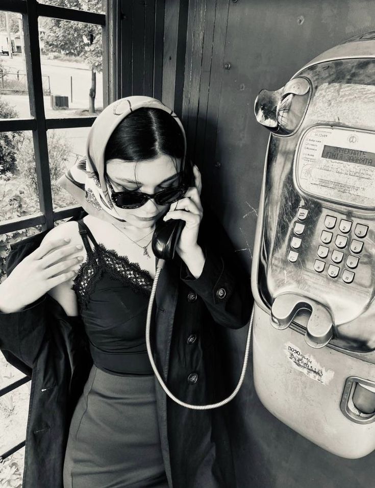
[[[89,127],[79,129],[48,130],[49,170],[51,172],[52,201],[54,210],[77,205],[77,201],[56,181],[74,163],[85,156]]]

